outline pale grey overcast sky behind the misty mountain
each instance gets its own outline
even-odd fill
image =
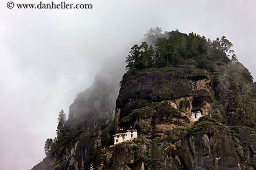
[[[61,109],[68,113],[104,60],[124,61],[151,27],[212,40],[225,35],[256,77],[255,0],[66,0],[93,9],[48,10],[8,9],[9,1],[0,2],[1,170],[30,170],[42,161]]]

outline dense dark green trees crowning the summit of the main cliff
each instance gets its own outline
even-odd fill
[[[212,71],[213,62],[231,62],[227,54],[233,54],[232,61],[237,63],[234,50],[231,50],[233,44],[225,36],[211,42],[210,39],[207,40],[204,36],[201,37],[193,32],[187,35],[176,30],[162,34],[161,28],[158,27],[148,32],[144,35],[147,38],[158,37],[155,45],[142,42],[141,45],[135,44],[131,48],[126,58],[126,69],[130,73],[150,67],[161,68],[182,64],[193,64],[198,68]]]

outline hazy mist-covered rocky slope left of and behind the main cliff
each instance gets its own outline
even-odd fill
[[[115,100],[120,79],[105,76],[96,76],[90,88],[77,94],[54,148],[32,170],[81,170],[94,149],[114,144]]]

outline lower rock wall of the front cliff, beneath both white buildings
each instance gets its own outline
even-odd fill
[[[207,118],[196,128],[115,145],[106,151],[101,170],[254,170],[255,137],[251,128],[231,131]]]

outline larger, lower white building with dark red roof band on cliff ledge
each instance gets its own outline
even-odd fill
[[[123,131],[123,129],[119,129],[117,131],[118,132],[113,135],[115,140],[114,145],[124,141],[135,139],[138,136],[137,130],[132,128],[128,129],[126,132]]]

